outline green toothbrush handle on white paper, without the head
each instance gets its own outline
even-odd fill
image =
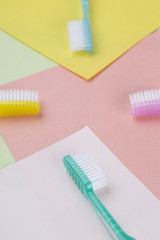
[[[108,212],[102,202],[97,198],[93,191],[88,192],[88,198],[95,208],[95,210],[100,214],[102,219],[107,223],[106,227],[110,232],[111,236],[115,240],[135,240],[134,238],[128,236],[118,223],[114,220],[112,215]]]

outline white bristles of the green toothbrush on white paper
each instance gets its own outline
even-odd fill
[[[78,154],[73,156],[73,159],[92,183],[93,190],[98,190],[107,185],[106,175],[87,154]]]

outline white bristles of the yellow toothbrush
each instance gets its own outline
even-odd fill
[[[38,102],[38,92],[33,90],[0,90],[0,101]]]

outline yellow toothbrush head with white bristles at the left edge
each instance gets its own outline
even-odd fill
[[[38,92],[0,90],[0,117],[37,114],[39,112]]]

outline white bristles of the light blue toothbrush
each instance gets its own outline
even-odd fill
[[[83,21],[68,22],[68,39],[71,51],[86,49]]]

